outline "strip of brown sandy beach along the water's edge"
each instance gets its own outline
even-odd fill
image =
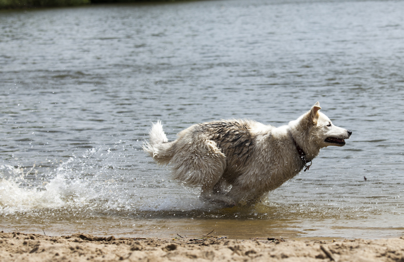
[[[395,261],[404,237],[355,240],[115,238],[0,233],[1,261]]]

